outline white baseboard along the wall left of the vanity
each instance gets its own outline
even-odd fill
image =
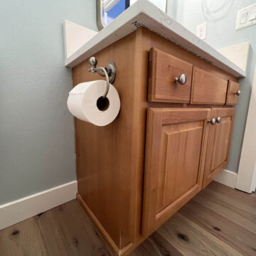
[[[0,230],[31,218],[38,213],[73,200],[78,181],[71,181],[0,206]]]

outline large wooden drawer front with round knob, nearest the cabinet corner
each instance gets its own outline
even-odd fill
[[[193,65],[156,48],[149,51],[149,102],[189,103]],[[175,82],[181,74],[186,83]]]

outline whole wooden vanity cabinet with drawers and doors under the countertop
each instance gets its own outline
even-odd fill
[[[105,127],[75,119],[77,198],[128,255],[227,165],[238,78],[146,28],[94,56],[115,63],[121,109]],[[74,86],[102,79],[88,68],[73,68]]]

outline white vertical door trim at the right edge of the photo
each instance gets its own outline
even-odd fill
[[[252,94],[248,108],[245,135],[238,168],[238,180],[235,188],[247,193],[255,191],[256,185],[256,68],[252,80]]]

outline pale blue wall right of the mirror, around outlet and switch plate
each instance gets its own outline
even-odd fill
[[[207,22],[206,42],[216,49],[237,43],[250,43],[247,77],[240,80],[242,93],[236,107],[233,138],[227,169],[238,172],[243,134],[256,63],[256,25],[235,31],[238,10],[256,0],[169,0],[168,13],[196,33],[198,24]]]

